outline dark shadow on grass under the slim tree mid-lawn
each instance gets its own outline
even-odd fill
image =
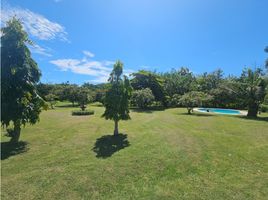
[[[97,158],[108,158],[129,145],[127,134],[104,135],[96,140],[92,151],[96,153]]]

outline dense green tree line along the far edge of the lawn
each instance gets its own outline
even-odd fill
[[[267,110],[268,77],[260,69],[245,68],[240,76],[224,76],[221,69],[194,75],[181,67],[165,73],[140,70],[130,78],[133,88],[131,104],[141,109],[163,107],[220,107],[247,109],[250,116]],[[39,83],[37,89],[46,101],[79,103],[81,92],[87,93],[91,102],[104,102],[109,83],[81,86],[62,83]],[[51,99],[53,97],[53,99]]]

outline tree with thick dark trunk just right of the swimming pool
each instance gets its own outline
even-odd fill
[[[248,105],[249,117],[257,117],[259,106],[265,97],[266,83],[260,68],[256,70],[245,69],[240,77],[240,92]]]

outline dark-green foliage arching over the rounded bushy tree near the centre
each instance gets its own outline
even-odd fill
[[[141,90],[149,88],[156,101],[162,102],[166,106],[165,92],[164,92],[164,79],[153,72],[140,70],[137,73],[132,74],[133,79],[131,80],[131,86],[135,90]]]

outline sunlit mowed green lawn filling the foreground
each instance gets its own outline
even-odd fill
[[[95,115],[42,112],[40,123],[22,130],[17,150],[3,149],[2,136],[3,200],[267,199],[267,114],[133,111],[114,140],[104,109],[90,109]]]

